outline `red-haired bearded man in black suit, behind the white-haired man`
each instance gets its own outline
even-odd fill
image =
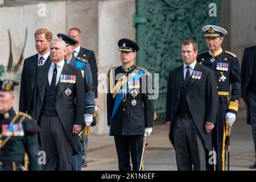
[[[40,28],[35,32],[35,48],[38,53],[24,60],[19,93],[19,111],[31,114],[34,104],[34,85],[38,66],[47,64],[49,61],[49,43],[52,33]]]

